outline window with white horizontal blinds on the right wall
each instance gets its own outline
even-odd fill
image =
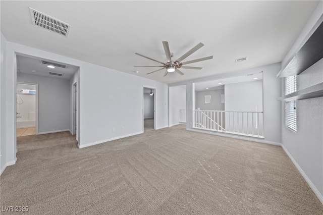
[[[296,91],[296,76],[289,76],[285,79],[285,95]],[[285,102],[285,125],[287,128],[297,132],[297,112],[296,112],[297,101],[286,101]]]

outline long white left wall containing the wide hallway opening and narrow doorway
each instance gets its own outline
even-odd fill
[[[7,43],[7,163],[16,159],[16,53],[79,66],[79,147],[143,132],[142,86],[155,88],[156,129],[168,127],[168,85],[113,69],[59,56],[36,48]],[[39,86],[39,92],[41,91]],[[70,98],[70,86],[67,86]],[[40,99],[39,99],[40,100]],[[68,121],[70,123],[68,101]],[[129,105],[131,104],[131,105]],[[70,129],[68,123],[67,129]],[[121,130],[124,127],[124,130]],[[113,132],[113,128],[116,129]]]

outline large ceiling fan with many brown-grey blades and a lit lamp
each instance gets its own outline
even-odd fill
[[[166,72],[164,74],[164,77],[167,76],[167,74],[170,73],[170,72],[177,72],[180,75],[184,75],[184,73],[182,73],[179,70],[180,68],[182,68],[182,69],[200,70],[200,69],[202,69],[202,67],[187,67],[187,66],[183,66],[183,65],[192,64],[192,63],[196,63],[196,62],[200,62],[200,61],[205,61],[205,60],[209,60],[209,59],[212,59],[213,58],[213,56],[209,56],[209,57],[205,57],[205,58],[195,59],[195,60],[192,60],[192,61],[182,62],[184,59],[186,59],[188,56],[192,55],[192,53],[194,53],[195,51],[197,51],[199,48],[201,48],[204,45],[203,43],[200,42],[197,45],[195,45],[192,49],[190,49],[189,51],[187,51],[182,57],[180,57],[176,61],[172,61],[172,58],[174,57],[174,55],[173,55],[172,52],[170,52],[170,47],[168,45],[168,42],[167,41],[163,41],[163,45],[164,45],[164,49],[165,49],[165,53],[166,53],[166,58],[167,58],[167,62],[166,63],[163,63],[163,62],[154,60],[152,58],[148,58],[146,56],[141,55],[140,53],[135,53],[136,55],[139,55],[139,56],[141,56],[143,58],[146,58],[146,59],[149,59],[151,61],[155,61],[155,62],[158,62],[160,64],[163,64],[163,66],[134,66],[134,67],[163,67],[163,68],[158,69],[156,71],[147,73],[147,75],[148,74],[151,74],[151,73],[154,73],[154,72],[158,72],[160,70],[164,70],[164,69],[166,69]]]

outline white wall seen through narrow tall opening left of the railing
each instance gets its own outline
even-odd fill
[[[169,88],[169,126],[180,123],[180,110],[186,110],[186,89],[184,87]]]

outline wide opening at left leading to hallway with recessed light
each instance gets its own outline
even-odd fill
[[[78,114],[73,112],[79,109],[75,92],[79,87],[75,84],[79,67],[21,53],[16,54],[16,60],[17,102],[14,108],[17,110],[16,127],[21,130],[16,130],[15,144],[17,137],[22,140],[23,136],[32,134],[69,131],[79,135],[75,131]]]

